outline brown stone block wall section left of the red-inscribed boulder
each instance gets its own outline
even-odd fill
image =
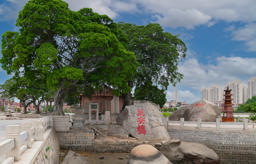
[[[94,151],[94,132],[70,130],[56,132],[60,140],[60,149]]]

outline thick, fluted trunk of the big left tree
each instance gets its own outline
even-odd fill
[[[63,112],[63,103],[65,100],[66,88],[63,86],[59,90],[54,92],[54,109],[52,115],[55,116],[64,116]]]

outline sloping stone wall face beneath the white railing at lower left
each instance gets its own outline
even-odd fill
[[[52,130],[33,164],[59,164],[59,154],[59,139]]]

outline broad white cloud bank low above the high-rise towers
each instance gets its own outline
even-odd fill
[[[256,76],[256,58],[221,56],[214,61],[215,64],[202,64],[196,58],[188,58],[178,66],[179,72],[184,75],[178,86],[200,91],[205,86],[211,87],[214,84],[224,86],[234,79],[245,82]]]

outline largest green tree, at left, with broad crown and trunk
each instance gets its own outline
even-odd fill
[[[64,115],[65,94],[77,87],[107,84],[115,95],[131,91],[127,81],[136,72],[136,56],[125,50],[125,34],[107,15],[72,11],[62,0],[30,0],[16,26],[19,33],[2,36],[2,68],[30,79],[44,74],[54,91],[55,115]]]

